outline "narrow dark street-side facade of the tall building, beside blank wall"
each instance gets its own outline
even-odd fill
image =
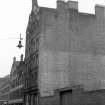
[[[26,52],[24,71],[25,105],[38,105],[38,71],[39,71],[39,15],[37,1],[32,1],[29,23],[26,30]],[[35,6],[35,7],[34,7]]]

